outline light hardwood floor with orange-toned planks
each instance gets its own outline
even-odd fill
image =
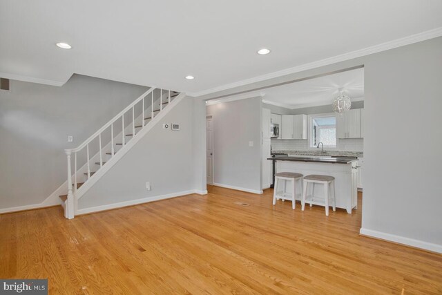
[[[3,214],[0,278],[49,278],[50,294],[442,294],[442,256],[359,236],[361,206],[327,218],[271,193]]]

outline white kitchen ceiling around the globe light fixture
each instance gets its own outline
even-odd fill
[[[283,86],[267,88],[261,92],[263,102],[285,108],[304,108],[332,104],[338,88],[344,88],[352,102],[364,98],[364,69],[345,72],[294,82]]]

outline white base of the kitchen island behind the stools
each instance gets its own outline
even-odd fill
[[[346,209],[351,214],[352,209],[358,205],[358,162],[348,164],[321,163],[321,162],[300,162],[294,160],[276,160],[275,173],[295,172],[307,176],[310,174],[334,176],[336,188],[336,208]],[[313,204],[325,206],[324,186],[314,184]],[[306,198],[306,206],[309,206],[313,184],[309,184]],[[276,189],[276,188],[275,188]],[[300,188],[296,187],[296,200],[301,200]],[[330,193],[330,192],[329,192]],[[330,204],[330,203],[329,203]]]

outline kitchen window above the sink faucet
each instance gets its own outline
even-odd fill
[[[316,148],[319,142],[329,149],[336,148],[336,116],[309,116],[309,147]]]

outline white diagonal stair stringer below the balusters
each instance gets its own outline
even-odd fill
[[[144,137],[153,127],[162,120],[163,117],[165,117],[177,104],[179,104],[182,99],[186,97],[186,93],[180,93],[173,101],[164,108],[160,113],[158,113],[151,122],[149,122],[144,128],[135,135],[125,146],[123,146],[118,153],[115,153],[115,155],[106,162],[106,165],[104,165],[101,169],[99,169],[93,177],[91,177],[87,182],[85,182],[79,189],[77,189],[77,192],[75,195],[75,213],[77,213],[77,205],[78,200],[84,196],[84,194],[91,188],[93,185],[103,177],[103,175],[106,174],[107,171],[109,171],[117,162],[130,151],[137,142],[139,142],[142,137]]]

